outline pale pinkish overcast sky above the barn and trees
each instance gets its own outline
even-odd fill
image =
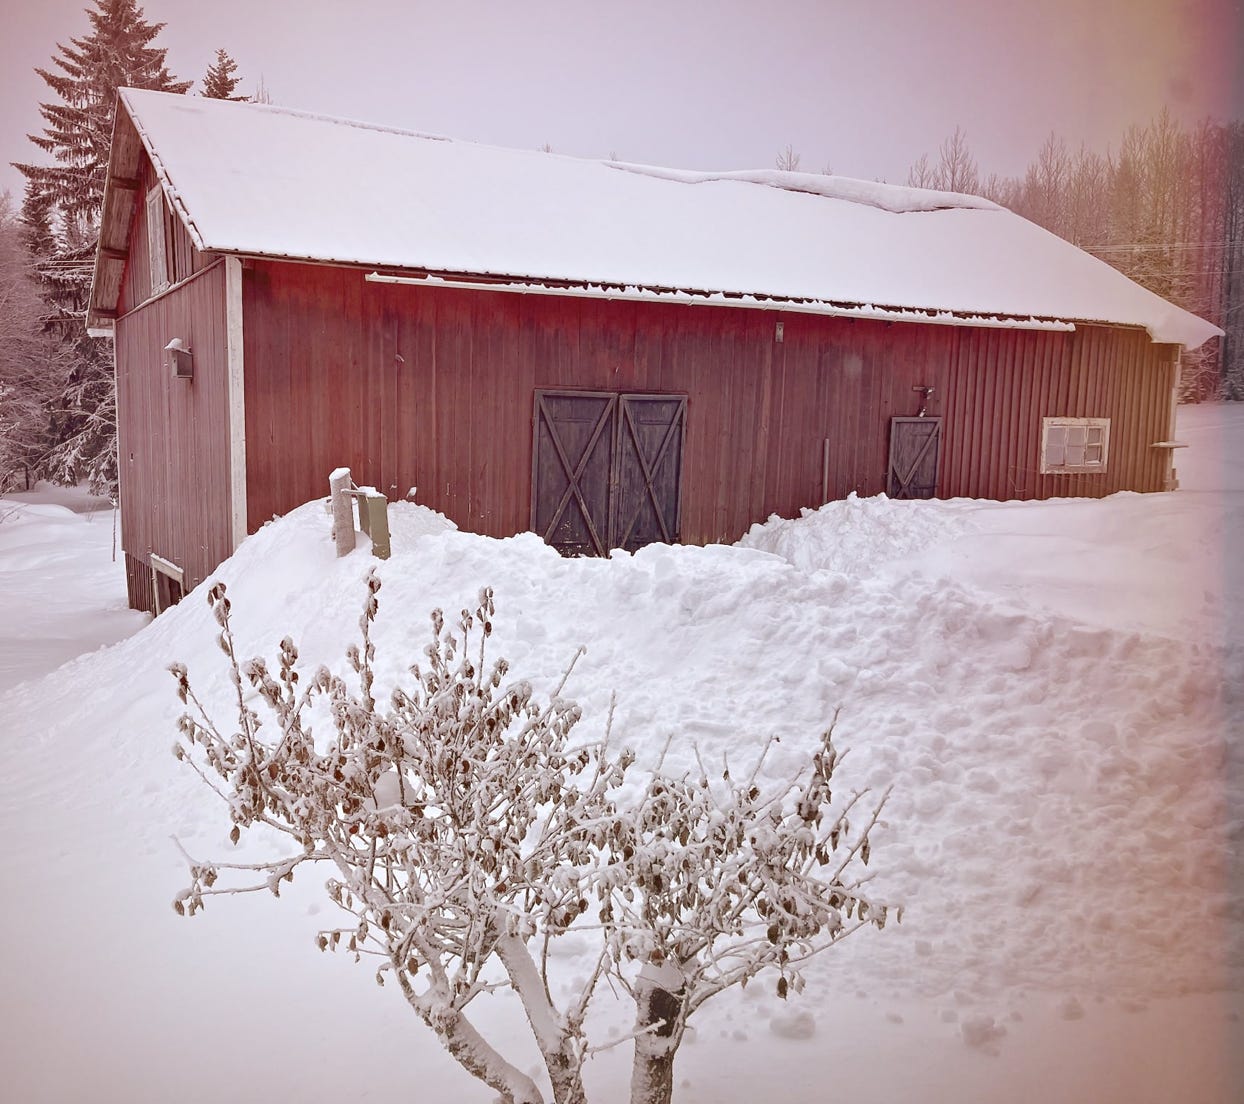
[[[34,72],[86,0],[0,0],[0,190],[41,154]],[[906,180],[963,127],[982,174],[1050,131],[1106,152],[1163,106],[1244,118],[1240,0],[147,0],[182,78],[218,46],[272,102],[499,146]],[[198,85],[195,86],[198,90]],[[364,188],[366,182],[360,182]]]

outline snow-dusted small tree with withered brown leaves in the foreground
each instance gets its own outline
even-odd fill
[[[602,978],[636,1001],[632,1099],[662,1104],[687,1018],[704,1001],[764,970],[776,972],[780,996],[797,991],[810,956],[861,926],[884,926],[888,906],[851,875],[868,861],[884,798],[852,831],[862,795],[835,803],[832,726],[776,787],[760,784],[766,744],[741,783],[728,767],[712,779],[703,764],[672,777],[658,763],[638,795],[624,797],[636,793],[634,757],[611,749],[612,709],[602,741],[572,744],[580,709],[561,697],[565,677],[540,702],[529,683],[506,681],[504,660],[488,662],[488,590],[452,629],[433,612],[413,681],[378,704],[379,586],[371,574],[361,643],[347,651],[352,677],[320,668],[305,686],[289,639],[275,675],[262,660],[239,660],[225,589],[210,590],[236,719],[215,724],[174,665],[188,707],[177,754],[225,802],[234,843],[264,826],[301,851],[259,863],[185,855],[192,881],[179,912],[193,915],[209,896],[279,894],[300,865],[331,864],[328,896],[351,921],[321,931],[320,950],[379,956],[377,982],[396,977],[465,1069],[505,1100],[539,1100],[464,1016],[481,994],[514,993],[556,1104],[586,1099],[583,1022]],[[312,711],[331,721],[322,746]],[[240,881],[216,885],[221,871]],[[549,948],[570,930],[598,938],[598,955],[560,1008]]]

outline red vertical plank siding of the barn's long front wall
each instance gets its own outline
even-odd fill
[[[938,495],[1161,490],[1169,349],[1141,331],[970,329],[244,273],[248,528],[348,465],[391,499],[509,535],[530,525],[536,388],[688,396],[683,539],[884,490],[889,418],[934,392]],[[775,341],[784,322],[785,340]],[[1106,474],[1041,475],[1041,418],[1111,419]]]

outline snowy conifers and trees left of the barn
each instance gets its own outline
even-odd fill
[[[117,90],[187,93],[174,77],[164,29],[136,0],[93,0],[90,31],[58,44],[36,68],[51,96],[40,105],[44,131],[31,134],[50,163],[22,163],[20,209],[0,197],[0,489],[35,479],[116,494],[117,411],[111,345],[83,320],[98,239]],[[225,50],[199,95],[238,92],[238,63]]]

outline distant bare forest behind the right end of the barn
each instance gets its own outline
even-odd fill
[[[1244,400],[1244,122],[1187,128],[1163,111],[1105,154],[1051,133],[1023,177],[982,178],[959,129],[938,153],[907,183],[993,199],[1220,326],[1184,355],[1181,398]]]

